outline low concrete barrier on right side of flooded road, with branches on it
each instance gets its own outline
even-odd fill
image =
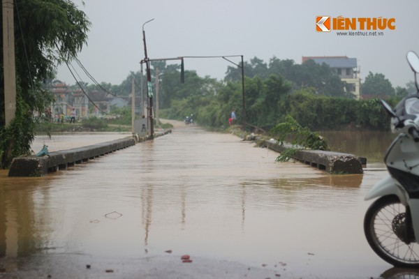
[[[279,153],[292,147],[281,146],[276,140],[265,140],[261,145]],[[353,154],[310,149],[298,149],[294,159],[334,174],[362,174],[362,161],[365,160]]]

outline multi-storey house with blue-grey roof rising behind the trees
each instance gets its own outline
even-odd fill
[[[356,58],[349,58],[348,56],[302,56],[302,63],[309,59],[318,64],[325,63],[334,69],[341,81],[348,84],[348,91],[355,98],[360,98],[361,79]]]

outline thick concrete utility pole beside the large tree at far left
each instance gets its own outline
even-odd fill
[[[4,112],[6,126],[8,126],[12,119],[15,118],[16,112],[15,27],[13,22],[13,0],[2,1]]]

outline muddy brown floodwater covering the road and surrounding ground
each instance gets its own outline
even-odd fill
[[[124,136],[53,136],[47,145],[52,151],[66,141],[73,148]],[[43,143],[41,137],[34,145]],[[370,204],[363,197],[386,175],[383,165],[331,175],[277,163],[277,155],[234,135],[181,126],[40,178],[8,178],[2,170],[0,278],[385,278],[407,272],[379,259],[363,234]],[[182,263],[184,254],[193,262]]]

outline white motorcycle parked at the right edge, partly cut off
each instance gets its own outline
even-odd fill
[[[419,267],[419,57],[406,56],[415,75],[416,93],[401,100],[393,110],[390,127],[398,133],[385,153],[389,176],[374,185],[365,200],[377,198],[367,209],[364,232],[372,250],[398,267]]]

